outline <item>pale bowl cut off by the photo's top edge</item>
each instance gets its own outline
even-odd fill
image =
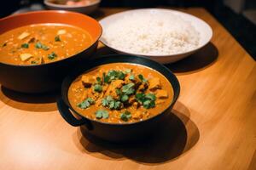
[[[62,4],[56,4],[51,3],[50,0],[44,0],[44,4],[46,8],[51,10],[68,10],[83,14],[91,14],[96,10],[96,8],[99,7],[99,4],[101,3],[101,0],[96,0],[93,3],[90,3],[89,5],[62,5]]]

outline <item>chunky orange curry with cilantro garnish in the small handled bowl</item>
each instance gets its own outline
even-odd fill
[[[171,105],[172,85],[143,65],[100,65],[72,82],[68,100],[79,114],[109,123],[140,122]]]

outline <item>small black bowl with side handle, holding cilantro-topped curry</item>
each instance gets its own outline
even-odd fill
[[[113,124],[106,122],[99,122],[90,120],[78,112],[74,111],[72,106],[70,105],[67,99],[68,88],[71,83],[79,77],[84,71],[88,71],[93,67],[98,65],[104,65],[108,63],[134,63],[145,65],[151,67],[155,71],[159,71],[162,75],[164,75],[169,82],[172,84],[172,88],[174,91],[174,97],[171,105],[157,116],[153,116],[147,120],[142,122],[132,122],[132,123],[124,123],[124,124]],[[153,60],[137,57],[131,55],[108,55],[105,57],[101,57],[98,59],[91,60],[90,63],[86,65],[81,65],[78,67],[76,71],[73,71],[68,77],[65,78],[64,82],[62,82],[61,87],[61,95],[62,99],[57,101],[58,109],[61,113],[61,116],[72,126],[83,126],[86,133],[89,133],[92,136],[95,136],[100,139],[113,141],[113,142],[127,142],[143,139],[148,137],[150,134],[153,134],[158,130],[159,123],[164,123],[166,116],[171,113],[172,106],[175,104],[177,97],[179,95],[180,86],[177,81],[177,77],[175,77],[171,71],[169,71],[164,65],[161,65]],[[74,114],[79,115],[81,119],[75,118]]]

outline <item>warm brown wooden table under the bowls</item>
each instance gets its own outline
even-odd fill
[[[123,10],[103,8],[95,17]],[[0,169],[256,169],[255,61],[205,9],[182,11],[207,21],[213,37],[197,54],[167,65],[181,94],[162,133],[144,144],[86,139],[61,118],[55,94],[1,88]]]

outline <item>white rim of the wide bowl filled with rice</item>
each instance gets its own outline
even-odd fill
[[[200,48],[203,48],[212,39],[212,35],[213,35],[212,27],[209,26],[206,21],[201,20],[200,18],[198,18],[198,17],[196,17],[196,16],[194,16],[192,14],[188,14],[188,13],[184,13],[182,11],[178,11],[178,10],[174,10],[174,9],[168,9],[168,8],[137,8],[137,9],[126,10],[126,11],[119,12],[119,13],[116,13],[116,14],[110,14],[110,15],[102,18],[101,20],[99,20],[99,23],[102,25],[102,21],[103,20],[108,20],[110,17],[116,16],[116,15],[119,15],[119,14],[125,14],[125,13],[136,12],[136,11],[143,11],[143,10],[144,11],[166,11],[166,12],[172,12],[172,13],[174,12],[174,13],[177,13],[177,14],[185,14],[185,15],[191,17],[191,18],[194,18],[196,20],[200,20],[205,26],[207,26],[207,29],[210,31],[209,38],[207,39],[207,41],[203,42],[197,48],[194,48],[194,49],[191,49],[191,50],[185,51],[185,52],[178,52],[176,54],[143,54],[143,53],[133,53],[133,52],[125,51],[124,49],[114,48],[113,46],[109,45],[107,41],[104,40],[103,36],[100,37],[100,39],[99,39],[100,42],[102,42],[108,48],[112,48],[113,50],[118,51],[120,53],[124,53],[124,54],[131,54],[131,55],[137,55],[137,56],[147,56],[147,57],[172,57],[172,56],[177,56],[177,55],[193,53],[196,50],[198,50]],[[102,26],[102,29],[103,29],[103,26]]]

